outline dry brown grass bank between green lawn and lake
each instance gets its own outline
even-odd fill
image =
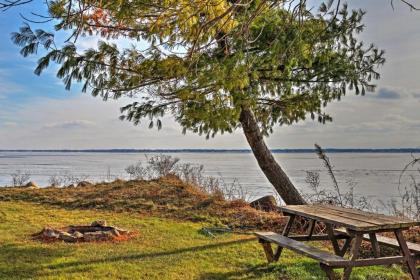
[[[285,218],[251,208],[242,200],[207,194],[176,176],[157,180],[116,180],[76,188],[1,188],[0,201],[27,201],[66,209],[100,209],[207,222],[234,229],[280,230]]]

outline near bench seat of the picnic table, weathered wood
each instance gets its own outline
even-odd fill
[[[328,266],[345,267],[349,264],[349,261],[342,257],[311,247],[275,232],[255,232],[255,235],[260,239],[276,243],[279,246],[318,260]]]

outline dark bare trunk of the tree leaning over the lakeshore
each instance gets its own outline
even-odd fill
[[[289,177],[274,159],[251,110],[243,108],[240,116],[242,129],[257,159],[258,165],[286,204],[306,204]]]

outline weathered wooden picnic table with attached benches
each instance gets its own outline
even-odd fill
[[[336,279],[336,268],[344,268],[342,279],[348,280],[354,267],[403,263],[408,266],[412,278],[419,280],[416,259],[420,259],[420,244],[406,242],[402,232],[410,227],[419,226],[420,222],[332,205],[289,205],[280,207],[280,210],[289,216],[281,234],[255,233],[268,262],[277,261],[283,248],[287,248],[319,261],[328,279]],[[297,217],[309,221],[304,235],[290,234]],[[326,234],[314,234],[315,225],[319,222],[325,224]],[[393,232],[395,239],[377,235],[381,232]],[[334,254],[303,243],[321,240],[331,241]],[[370,241],[373,258],[359,258],[362,240]],[[275,251],[271,247],[272,243],[278,245]],[[379,245],[399,249],[401,255],[383,256]],[[344,257],[346,252],[349,253],[348,258]]]

